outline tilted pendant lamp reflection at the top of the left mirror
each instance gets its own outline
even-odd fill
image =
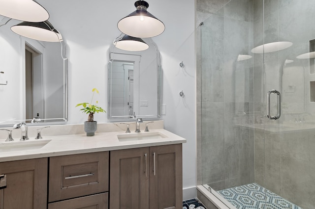
[[[48,21],[33,23],[22,22],[12,26],[11,30],[21,36],[39,41],[59,42],[63,40],[61,34]]]

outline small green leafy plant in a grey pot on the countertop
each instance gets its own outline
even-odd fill
[[[92,89],[93,95],[91,99],[91,103],[80,103],[77,104],[77,106],[83,106],[82,109],[80,109],[82,112],[89,114],[88,121],[84,122],[84,131],[87,132],[87,136],[94,136],[95,131],[97,130],[97,121],[94,121],[94,113],[98,112],[106,112],[104,109],[102,109],[100,106],[97,106],[95,104],[92,104],[93,97],[95,92],[98,94],[98,90],[96,88]],[[96,104],[98,101],[96,101]]]

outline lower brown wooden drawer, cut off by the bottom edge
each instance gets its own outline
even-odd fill
[[[48,209],[108,209],[108,193],[50,203]]]

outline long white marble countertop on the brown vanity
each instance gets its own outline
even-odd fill
[[[138,147],[150,147],[168,144],[179,144],[185,143],[186,139],[182,138],[172,132],[164,129],[150,130],[150,133],[159,132],[167,137],[165,138],[154,138],[154,139],[141,139],[131,141],[120,141],[117,134],[125,134],[125,131],[116,132],[96,132],[95,136],[86,136],[86,134],[72,134],[72,135],[56,135],[46,136],[43,139],[30,139],[31,141],[38,140],[51,140],[49,143],[41,148],[37,149],[22,149],[15,151],[7,151],[5,149],[0,152],[0,162],[41,158],[41,157],[54,157],[63,155],[83,154],[83,153],[94,153],[111,150],[130,149]],[[134,132],[131,132],[134,134]],[[130,134],[131,134],[130,133]],[[141,132],[143,133],[143,132]],[[149,132],[148,132],[149,133]],[[12,141],[4,142],[0,141],[0,144],[4,143],[23,143],[25,141]]]

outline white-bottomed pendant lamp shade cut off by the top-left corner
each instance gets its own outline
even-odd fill
[[[34,0],[0,0],[0,15],[27,22],[49,18],[47,10]]]

